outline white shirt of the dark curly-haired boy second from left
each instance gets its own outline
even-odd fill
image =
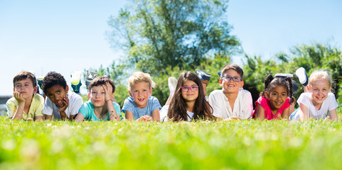
[[[70,118],[70,115],[76,115],[78,113],[83,104],[83,99],[80,95],[75,94],[73,91],[69,91],[68,98],[69,104],[68,108],[65,109],[65,113],[68,115],[68,118]],[[50,98],[47,97],[44,103],[43,114],[53,115],[53,120],[61,120],[62,117],[60,116],[59,111],[60,108],[58,108],[58,106],[56,106],[55,103],[50,101]]]

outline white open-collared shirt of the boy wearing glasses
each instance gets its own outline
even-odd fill
[[[223,90],[215,90],[209,95],[210,106],[213,107],[213,115],[223,120],[237,117],[247,119],[252,117],[253,103],[250,91],[239,89],[237,98],[234,102],[234,108],[230,108],[227,96],[223,94]]]

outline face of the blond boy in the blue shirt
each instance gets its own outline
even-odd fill
[[[132,91],[129,91],[129,95],[134,99],[138,108],[145,108],[147,106],[147,100],[151,95],[149,84],[146,82],[139,82],[132,86]]]

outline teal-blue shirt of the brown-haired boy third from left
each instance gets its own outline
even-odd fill
[[[120,106],[118,103],[114,103],[113,102],[113,106],[115,111],[117,112],[118,115],[121,116],[121,112],[120,112]],[[96,117],[95,113],[94,113],[94,106],[92,105],[91,101],[86,101],[80,108],[80,111],[78,111],[79,113],[82,113],[82,115],[85,117],[85,120],[91,120],[91,121],[102,121],[99,118]],[[103,119],[103,120],[109,120],[109,112],[107,111],[107,118]]]

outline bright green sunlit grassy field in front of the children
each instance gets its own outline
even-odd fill
[[[0,169],[341,169],[342,123],[0,118]]]

